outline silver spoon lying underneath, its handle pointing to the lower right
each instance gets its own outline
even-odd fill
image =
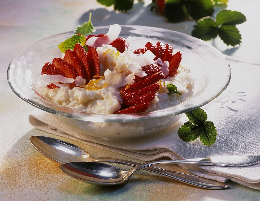
[[[116,158],[92,158],[85,150],[80,147],[59,139],[44,137],[44,136],[31,136],[30,141],[33,146],[44,156],[55,160],[59,163],[69,163],[77,161],[100,161],[109,163],[119,163],[129,166],[140,165],[140,163],[116,159]],[[198,177],[195,175],[164,170],[161,168],[147,168],[147,171],[154,172],[172,179],[175,179],[186,184],[194,185],[206,189],[223,189],[228,188],[230,185],[217,182],[214,180]]]

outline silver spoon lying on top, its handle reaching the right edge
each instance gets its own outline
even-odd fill
[[[235,156],[236,160],[243,160],[242,163],[238,161],[231,161],[230,164],[226,162],[230,162],[228,158],[230,157],[212,157],[212,158],[204,158],[204,159],[192,159],[188,160],[189,163],[192,164],[200,164],[199,161],[205,162],[204,165],[224,165],[224,166],[233,166],[233,167],[241,167],[248,166],[259,162],[260,155],[247,155],[247,159],[245,160],[245,155]],[[224,161],[222,161],[224,158]],[[112,186],[124,183],[131,175],[135,172],[138,172],[142,169],[150,167],[152,165],[162,165],[162,164],[176,164],[176,163],[185,163],[185,160],[164,160],[164,161],[153,161],[149,163],[144,163],[141,165],[137,165],[127,171],[121,170],[118,167],[113,165],[109,165],[106,163],[96,163],[96,162],[72,162],[66,163],[60,166],[60,169],[66,173],[67,175],[74,177],[76,179],[80,179],[86,183],[94,184],[94,185],[102,185],[102,186]],[[193,162],[192,162],[193,161]],[[219,163],[220,162],[220,163]],[[243,165],[242,165],[243,164]]]

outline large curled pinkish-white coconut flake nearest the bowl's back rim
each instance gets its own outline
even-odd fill
[[[86,45],[92,46],[92,47],[101,47],[103,44],[110,44],[115,39],[118,38],[121,31],[121,26],[119,24],[113,24],[109,26],[109,31],[101,37],[92,36],[86,41]]]

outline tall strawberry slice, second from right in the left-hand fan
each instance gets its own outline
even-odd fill
[[[76,53],[77,57],[79,58],[79,60],[81,61],[82,65],[84,67],[84,70],[86,72],[86,78],[85,79],[86,79],[86,83],[88,83],[89,80],[92,79],[92,77],[91,77],[87,53],[86,53],[84,47],[79,43],[77,43],[75,45],[73,52]]]

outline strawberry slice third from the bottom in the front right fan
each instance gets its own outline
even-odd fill
[[[142,89],[140,89],[138,91],[135,91],[133,93],[126,93],[121,98],[122,98],[123,102],[126,102],[128,100],[133,99],[133,98],[137,98],[137,97],[143,96],[145,94],[149,94],[149,93],[155,92],[155,91],[157,91],[159,89],[160,89],[160,84],[159,84],[159,82],[156,82],[156,83],[154,83],[154,84],[152,84],[150,86],[142,88]]]

